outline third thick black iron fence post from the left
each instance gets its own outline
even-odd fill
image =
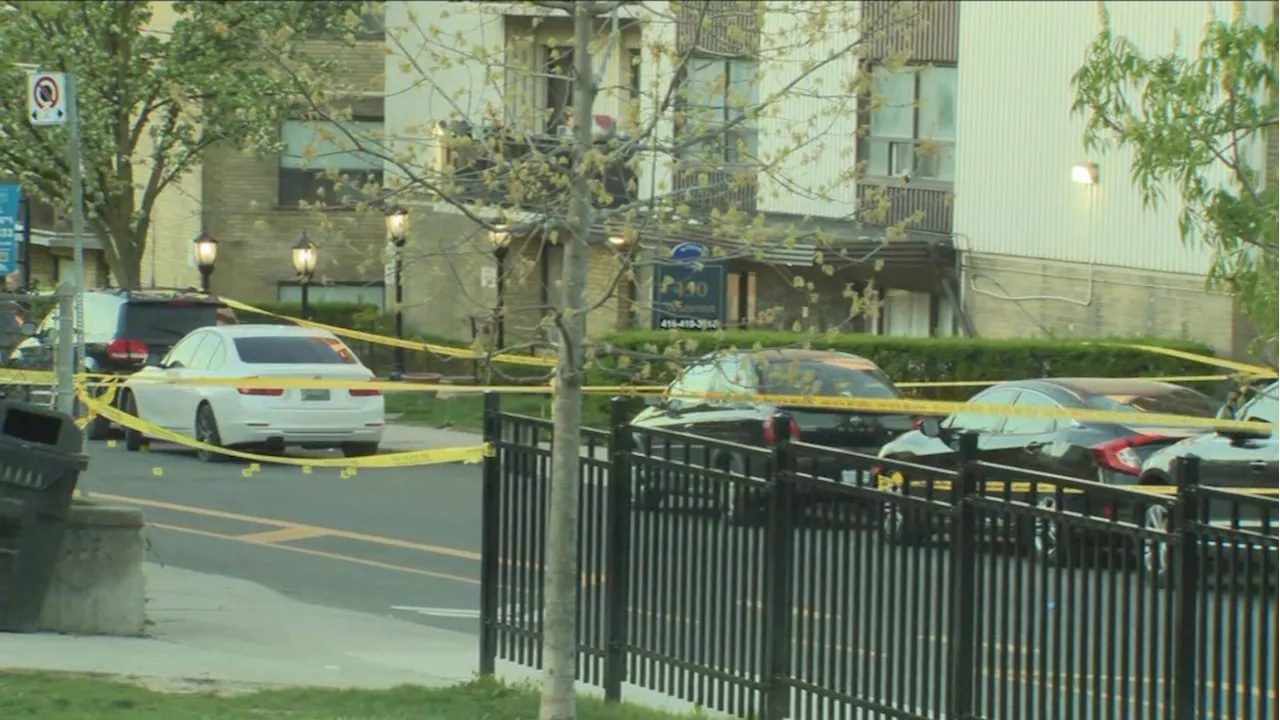
[[[791,416],[773,418],[773,474],[769,478],[769,518],[764,533],[764,719],[783,720],[791,700],[792,565],[795,516],[792,514]]]

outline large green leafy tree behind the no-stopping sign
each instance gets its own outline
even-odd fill
[[[0,174],[68,210],[67,128],[26,118],[29,67],[79,85],[84,217],[118,282],[137,287],[157,199],[227,140],[273,149],[288,104],[282,59],[323,79],[303,53],[320,31],[342,36],[355,3],[15,3],[0,13]],[[291,83],[296,82],[291,78]]]

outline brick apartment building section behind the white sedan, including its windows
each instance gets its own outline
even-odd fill
[[[355,45],[316,37],[307,53],[340,58],[334,78],[337,105],[351,108],[351,126],[369,137],[383,135],[384,33],[381,14],[371,10]],[[312,302],[365,302],[381,306],[385,223],[379,213],[357,211],[365,190],[383,184],[383,163],[343,140],[332,122],[284,119],[283,151],[246,155],[230,140],[211,147],[198,172],[184,178],[159,210],[198,218],[184,233],[156,243],[156,284],[196,284],[192,241],[201,229],[219,242],[212,290],[244,301],[297,302],[301,286],[291,261],[293,245],[306,233],[317,246]],[[326,170],[338,170],[334,179]],[[184,208],[184,202],[189,208]],[[324,208],[317,211],[315,205]],[[143,278],[147,277],[146,264]],[[172,278],[172,279],[170,279]]]

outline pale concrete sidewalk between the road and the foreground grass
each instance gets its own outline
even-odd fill
[[[0,634],[0,670],[104,674],[195,692],[440,687],[467,682],[477,670],[476,635],[308,605],[234,578],[155,564],[145,570],[151,637]],[[497,670],[511,682],[538,676],[502,661]],[[585,684],[579,691],[600,694]],[[623,697],[671,711],[694,708],[631,685]]]

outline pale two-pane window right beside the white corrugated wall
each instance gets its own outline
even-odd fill
[[[867,174],[955,182],[956,69],[874,69]]]

